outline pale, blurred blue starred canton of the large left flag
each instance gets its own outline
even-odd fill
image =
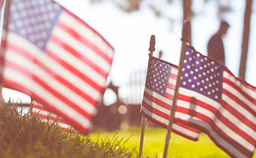
[[[62,8],[50,0],[12,0],[8,30],[44,51]]]

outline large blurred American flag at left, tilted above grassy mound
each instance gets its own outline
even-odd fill
[[[87,133],[114,49],[50,0],[11,0],[5,8],[2,80]]]

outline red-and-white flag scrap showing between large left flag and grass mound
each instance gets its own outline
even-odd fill
[[[38,102],[33,102],[32,114],[35,114],[38,117],[41,117],[43,122],[46,122],[46,123],[55,122],[61,129],[65,129],[69,131],[74,130],[72,126],[70,126],[69,123],[66,122],[66,120],[64,120],[62,117],[57,116],[56,114],[51,113],[46,106],[41,105]]]

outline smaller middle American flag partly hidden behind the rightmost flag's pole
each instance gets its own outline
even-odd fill
[[[149,120],[164,127],[169,125],[177,74],[177,66],[149,56],[141,112]],[[194,141],[197,141],[200,133],[199,130],[180,122],[175,122],[172,129],[173,132]]]

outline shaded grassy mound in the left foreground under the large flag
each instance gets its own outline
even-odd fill
[[[0,102],[1,158],[136,158],[133,148],[113,136],[91,141],[79,132],[62,131],[56,123],[42,123],[17,106]]]

